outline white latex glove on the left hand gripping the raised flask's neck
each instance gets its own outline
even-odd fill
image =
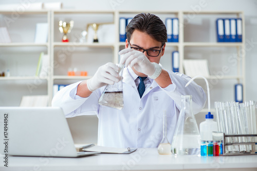
[[[108,62],[105,65],[98,68],[95,75],[87,80],[87,88],[93,92],[100,87],[106,86],[107,84],[114,84],[122,79],[119,76],[119,67],[112,62]]]

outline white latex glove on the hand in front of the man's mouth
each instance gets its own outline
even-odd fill
[[[155,79],[161,73],[161,67],[158,63],[151,62],[142,52],[134,49],[123,49],[119,52],[119,55],[123,55],[120,63],[125,64],[125,67],[130,65],[134,67],[140,73],[147,75],[148,77]]]

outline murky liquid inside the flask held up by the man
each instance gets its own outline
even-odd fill
[[[123,92],[104,92],[99,104],[121,110],[123,108]]]

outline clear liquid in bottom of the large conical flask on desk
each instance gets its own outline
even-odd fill
[[[175,155],[200,155],[200,135],[177,135],[173,137],[172,153]]]

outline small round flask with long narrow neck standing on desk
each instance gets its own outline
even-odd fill
[[[163,112],[162,116],[162,140],[158,145],[158,153],[160,155],[170,155],[171,154],[171,144],[167,139],[167,114],[166,111]]]

